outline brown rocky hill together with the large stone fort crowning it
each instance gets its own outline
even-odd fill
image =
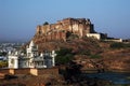
[[[82,66],[82,70],[125,70],[129,71],[130,46],[122,43],[121,47],[113,48],[114,42],[102,42],[88,38],[87,33],[94,33],[93,24],[86,18],[65,18],[56,24],[37,27],[34,42],[39,52],[73,49],[74,61]]]

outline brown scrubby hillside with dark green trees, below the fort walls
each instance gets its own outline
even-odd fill
[[[125,70],[130,68],[130,43],[103,42],[93,38],[75,38],[66,42],[37,43],[39,52],[55,49],[56,64],[76,61],[82,70],[105,69]]]

